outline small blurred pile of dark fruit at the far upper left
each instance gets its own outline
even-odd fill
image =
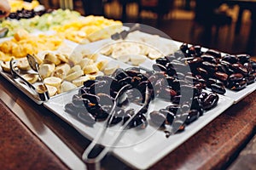
[[[53,11],[53,9],[42,9],[39,11],[35,11],[34,9],[25,9],[22,8],[20,10],[17,10],[16,12],[10,13],[8,18],[14,19],[14,20],[20,20],[20,19],[31,19],[35,16],[42,16],[43,14],[49,14]]]

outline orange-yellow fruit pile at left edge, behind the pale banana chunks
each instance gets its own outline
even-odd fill
[[[25,30],[19,30],[11,40],[0,43],[0,50],[4,55],[0,59],[8,61],[11,57],[24,58],[26,54],[38,54],[44,50],[56,50],[63,38],[57,35],[30,35]],[[3,57],[2,57],[3,56]]]

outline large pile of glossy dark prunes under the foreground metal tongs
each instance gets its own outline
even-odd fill
[[[185,125],[218,104],[218,94],[202,92],[206,82],[201,77],[192,77],[191,71],[185,69],[187,65],[171,64],[170,57],[177,56],[157,59],[153,71],[142,67],[119,68],[112,76],[99,76],[84,82],[84,87],[73,95],[65,110],[90,126],[106,121],[111,113],[109,126],[124,125],[129,120],[128,128],[143,129],[149,121],[159,127],[175,125],[177,131],[183,131]],[[148,105],[156,98],[170,105],[148,113]],[[136,111],[129,106],[131,103],[141,108]]]

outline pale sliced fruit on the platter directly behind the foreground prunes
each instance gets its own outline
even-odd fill
[[[158,59],[166,54],[173,54],[178,47],[172,42],[162,42],[159,36],[135,31],[125,40],[109,42],[100,53],[131,65],[140,65],[147,58]]]

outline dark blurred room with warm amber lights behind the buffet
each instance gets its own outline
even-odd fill
[[[247,3],[244,3],[247,2]],[[40,0],[124,23],[154,26],[180,42],[256,55],[255,0]],[[253,22],[254,21],[254,22]]]

